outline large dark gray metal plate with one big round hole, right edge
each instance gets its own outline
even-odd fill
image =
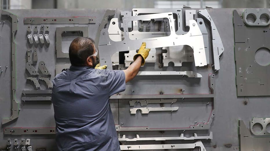
[[[270,32],[263,32],[269,31],[269,27],[245,26],[236,10],[233,11],[233,24],[237,96],[269,96],[269,62],[264,66],[255,59],[257,51],[270,49],[267,40]]]

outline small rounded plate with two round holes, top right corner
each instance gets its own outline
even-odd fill
[[[250,23],[247,20],[247,16],[248,15],[253,15],[255,17],[255,22],[254,23]],[[268,18],[268,22],[267,23],[263,23],[260,18],[261,15],[266,15]],[[243,12],[243,21],[246,25],[248,26],[267,26],[270,23],[270,12],[268,8],[264,8],[264,9],[254,9],[254,8],[248,8]]]

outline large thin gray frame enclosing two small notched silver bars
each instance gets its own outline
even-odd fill
[[[177,130],[207,130],[210,129],[211,123],[215,116],[215,74],[209,74],[209,88],[212,94],[162,94],[162,95],[113,95],[110,99],[176,99],[176,98],[211,98],[212,99],[212,111],[209,118],[205,122],[198,122],[194,125],[189,125],[180,128],[151,128],[148,126],[140,127],[124,127],[121,125],[115,125],[116,131],[177,131]]]

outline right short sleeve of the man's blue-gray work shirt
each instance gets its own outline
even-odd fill
[[[126,90],[126,76],[122,70],[106,70],[107,88],[109,95],[112,96]]]

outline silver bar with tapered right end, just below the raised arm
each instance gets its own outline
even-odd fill
[[[202,78],[202,75],[193,71],[139,71],[137,76],[169,76],[180,75],[188,78]]]

